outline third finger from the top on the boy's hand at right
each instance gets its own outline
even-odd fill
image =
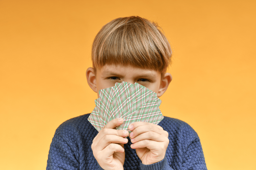
[[[138,141],[142,141],[142,140],[146,140],[146,139],[156,141],[156,142],[169,143],[169,139],[167,137],[165,137],[164,135],[160,135],[158,133],[152,132],[152,131],[148,131],[148,132],[145,132],[145,133],[142,133],[142,134],[136,136],[135,138],[131,138],[131,142],[136,143]]]

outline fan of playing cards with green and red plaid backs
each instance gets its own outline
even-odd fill
[[[133,122],[158,124],[164,118],[159,109],[162,101],[155,92],[138,83],[115,83],[113,87],[100,90],[99,95],[95,100],[96,107],[88,117],[97,131],[115,118],[124,119],[123,124],[116,127],[124,130],[128,130]]]

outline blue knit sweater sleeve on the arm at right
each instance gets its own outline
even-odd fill
[[[189,124],[165,117],[159,125],[169,133],[170,142],[163,162],[156,163],[162,167],[152,164],[148,169],[207,170],[199,136]]]

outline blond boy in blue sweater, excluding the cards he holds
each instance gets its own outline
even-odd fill
[[[156,24],[135,16],[117,18],[96,35],[93,68],[87,69],[86,78],[98,97],[99,90],[122,81],[137,82],[160,97],[172,80],[166,73],[170,60],[170,44]],[[128,131],[114,129],[122,118],[98,132],[88,122],[89,115],[57,128],[47,170],[207,169],[197,133],[181,120],[164,117],[158,125],[135,122],[129,126],[129,138]]]

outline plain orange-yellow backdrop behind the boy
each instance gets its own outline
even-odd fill
[[[164,116],[197,131],[208,169],[255,170],[255,1],[0,0],[0,167],[46,169],[65,120],[90,113],[94,37],[107,22],[158,22],[173,49]]]

